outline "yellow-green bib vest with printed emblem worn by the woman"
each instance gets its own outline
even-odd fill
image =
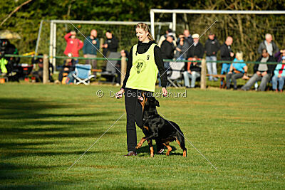
[[[155,92],[157,65],[155,64],[155,43],[145,53],[136,53],[138,44],[133,46],[133,66],[125,85],[126,88]]]

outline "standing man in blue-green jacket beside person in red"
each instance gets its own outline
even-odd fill
[[[99,48],[100,48],[100,42],[97,38],[97,31],[92,30],[90,32],[90,36],[88,36],[84,41],[84,46],[83,46],[84,58],[97,58],[97,51]],[[90,64],[92,65],[93,69],[96,69],[97,60],[86,59],[86,64]]]

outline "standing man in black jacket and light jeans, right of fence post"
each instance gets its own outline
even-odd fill
[[[214,33],[209,33],[209,38],[205,43],[206,60],[217,61],[217,52],[219,51],[219,41]],[[209,80],[217,81],[217,78],[213,78],[212,75],[217,75],[217,62],[207,62],[207,70],[209,73]]]

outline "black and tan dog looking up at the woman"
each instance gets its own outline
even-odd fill
[[[142,137],[135,148],[139,149],[143,142],[147,141],[150,147],[150,157],[153,157],[152,139],[159,139],[167,147],[166,155],[168,156],[172,151],[169,143],[176,140],[183,150],[183,157],[186,157],[187,149],[185,148],[184,134],[175,122],[167,121],[157,113],[156,107],[159,107],[160,104],[155,97],[147,97],[145,94],[142,94],[139,101],[142,105],[142,132],[145,134],[145,137]]]

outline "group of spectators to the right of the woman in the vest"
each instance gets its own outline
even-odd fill
[[[243,60],[243,53],[232,51],[233,41],[232,36],[228,36],[220,45],[217,36],[209,32],[207,41],[203,45],[199,42],[199,34],[190,35],[189,30],[185,30],[175,40],[174,33],[168,29],[166,34],[160,37],[158,44],[164,59],[189,60],[182,73],[186,88],[195,88],[195,82],[201,75],[201,64],[195,60],[202,60],[205,54],[208,80],[217,81],[217,77],[221,78],[221,88],[230,89],[231,83],[233,83],[234,90],[237,90],[237,79],[243,78],[247,80],[247,83],[242,86],[242,90],[249,90],[252,85],[257,85],[257,81],[261,81],[259,87],[256,86],[257,90],[266,90],[268,83],[271,82],[273,90],[282,92],[285,80],[285,50],[279,51],[279,47],[272,41],[271,34],[266,33],[264,41],[259,44],[257,52],[260,56],[256,60],[259,64],[254,64],[254,75],[251,78],[247,74],[248,67]],[[215,62],[218,51],[220,51],[219,60],[225,62],[222,63],[220,75],[217,73],[217,63]],[[272,64],[272,62],[279,64]],[[165,68],[169,67],[170,63],[166,62]],[[279,83],[278,88],[277,83]]]

